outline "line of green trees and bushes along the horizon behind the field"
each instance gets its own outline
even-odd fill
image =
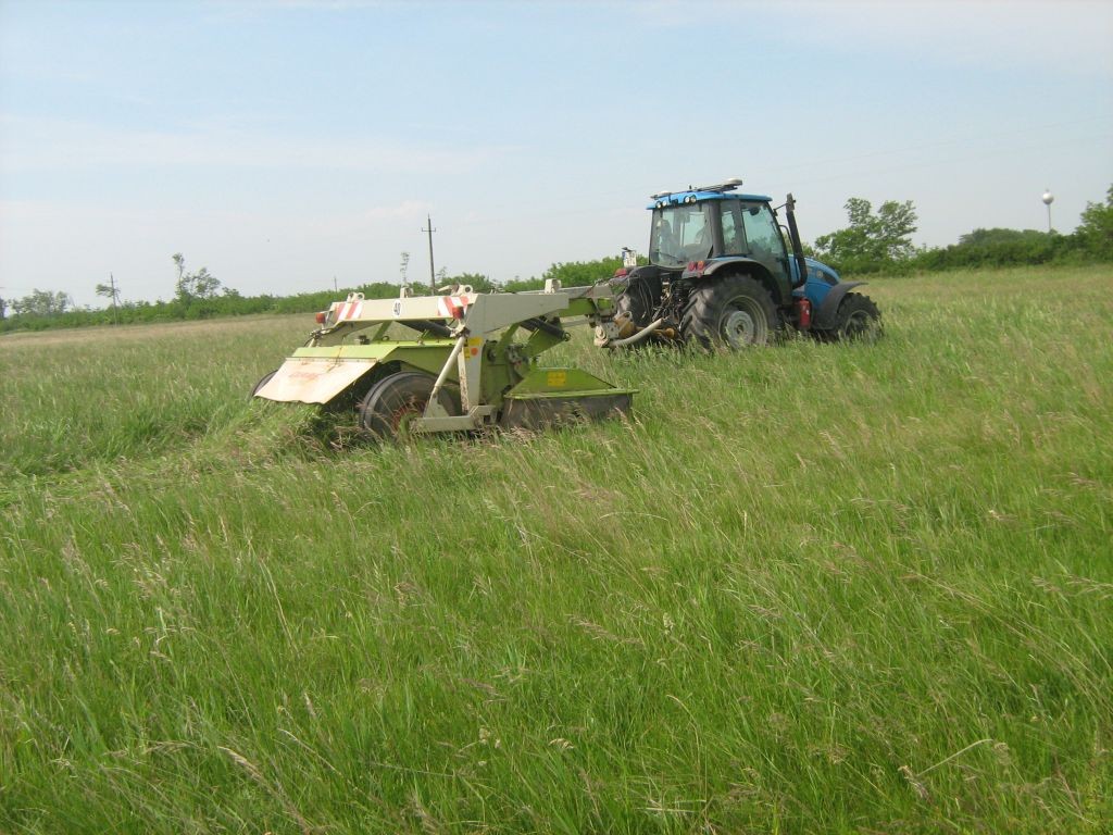
[[[846,203],[847,226],[820,235],[807,254],[830,264],[841,273],[904,274],[969,267],[1001,267],[1037,264],[1081,264],[1113,262],[1113,186],[1104,203],[1087,203],[1074,232],[1061,235],[1035,229],[974,229],[946,247],[916,248],[912,235],[918,218],[912,200],[887,200],[874,210],[869,200],[851,197]],[[17,299],[0,298],[0,333],[17,330],[76,327],[112,323],[170,322],[214,316],[243,316],[256,313],[313,313],[325,310],[351,292],[366,298],[393,298],[398,283],[374,282],[337,289],[298,293],[290,296],[263,294],[244,296],[224,286],[206,267],[186,268],[181,253],[171,256],[176,273],[174,298],[169,302],[121,301],[120,288],[98,284],[96,293],[109,301],[109,307],[77,307],[60,292],[35,289]],[[410,254],[402,253],[401,284],[425,292],[423,283],[407,276]],[[470,285],[477,292],[520,292],[540,289],[549,278],[565,287],[592,284],[613,275],[622,265],[618,256],[587,262],[555,263],[540,276],[498,283],[480,273],[449,275],[442,269],[436,286]],[[12,315],[8,315],[8,313]]]

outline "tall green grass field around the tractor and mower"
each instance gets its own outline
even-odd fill
[[[0,338],[0,833],[1111,832],[1113,269],[869,292],[341,451],[307,316]]]

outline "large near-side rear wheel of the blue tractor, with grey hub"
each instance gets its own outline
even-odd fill
[[[680,330],[699,345],[731,351],[765,345],[777,333],[777,308],[769,291],[748,275],[710,281],[693,291]]]

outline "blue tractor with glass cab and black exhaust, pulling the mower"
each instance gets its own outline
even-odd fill
[[[792,195],[778,209],[740,179],[653,195],[649,264],[624,250],[615,273],[621,342],[707,348],[764,345],[787,328],[825,340],[873,340],[880,313],[837,272],[805,257]],[[786,244],[786,237],[788,243]],[[789,249],[789,246],[791,249]]]

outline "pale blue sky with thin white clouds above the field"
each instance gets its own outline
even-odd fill
[[[913,200],[917,244],[1057,229],[1113,184],[1109,2],[0,0],[0,295],[495,279],[644,250],[740,176]]]

